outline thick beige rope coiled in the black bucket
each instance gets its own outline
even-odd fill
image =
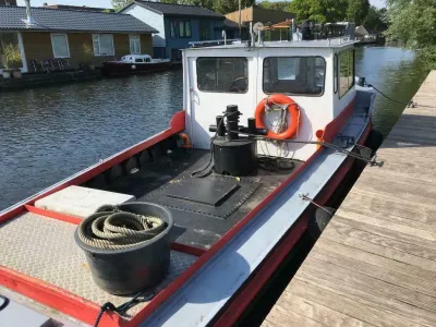
[[[146,242],[166,228],[162,219],[135,215],[105,205],[78,225],[78,239],[101,250],[122,250]]]

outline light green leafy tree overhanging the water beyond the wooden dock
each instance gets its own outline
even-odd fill
[[[387,36],[414,49],[429,69],[436,69],[435,0],[388,0]]]

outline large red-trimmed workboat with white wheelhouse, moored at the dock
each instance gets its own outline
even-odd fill
[[[166,130],[0,213],[3,300],[68,326],[238,323],[302,235],[323,231],[353,165],[379,165],[354,45],[258,37],[183,50],[184,110]],[[77,225],[102,205],[172,216],[168,266],[143,292],[105,291],[113,271],[90,267],[108,264],[102,252],[77,246]]]

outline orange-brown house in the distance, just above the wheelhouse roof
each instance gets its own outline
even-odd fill
[[[291,12],[265,9],[256,5],[252,5],[241,10],[241,23],[244,24],[245,26],[250,26],[251,23],[254,25],[257,22],[264,23],[265,25],[277,24],[295,17],[296,14]],[[234,11],[228,13],[226,15],[226,19],[239,23],[240,12]],[[282,38],[286,38],[286,35],[282,35],[282,32],[280,29],[280,31],[268,32],[266,37],[269,38],[269,40],[280,40]]]

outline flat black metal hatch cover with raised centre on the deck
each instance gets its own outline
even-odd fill
[[[226,219],[259,186],[259,183],[232,177],[184,177],[147,196],[147,201],[170,209]]]

